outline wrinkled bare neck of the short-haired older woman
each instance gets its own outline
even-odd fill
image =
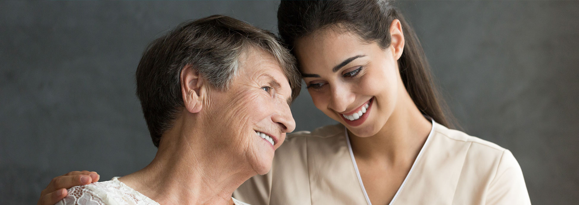
[[[119,180],[159,204],[233,204],[233,191],[256,173],[240,172],[247,167],[207,145],[203,128],[182,129],[192,124],[175,123],[155,159]]]

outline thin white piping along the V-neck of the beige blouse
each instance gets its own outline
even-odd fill
[[[393,205],[394,201],[396,200],[396,197],[398,196],[398,194],[400,194],[402,187],[404,187],[404,185],[406,184],[406,181],[408,180],[408,176],[410,176],[410,174],[412,173],[412,170],[414,170],[414,167],[416,166],[416,162],[418,161],[420,156],[422,156],[422,153],[424,152],[424,147],[426,147],[426,144],[428,144],[428,141],[430,141],[430,138],[431,138],[430,136],[432,136],[434,133],[434,125],[435,125],[434,119],[431,117],[427,117],[427,116],[424,116],[424,117],[430,118],[430,121],[431,121],[433,126],[432,126],[432,128],[430,128],[430,133],[428,133],[428,136],[426,137],[426,141],[424,142],[424,145],[422,146],[422,148],[420,148],[420,152],[418,152],[418,156],[416,156],[414,163],[412,163],[412,167],[410,168],[410,171],[408,172],[408,174],[406,174],[404,181],[402,181],[402,185],[400,185],[400,187],[398,188],[398,191],[396,191],[396,194],[394,195],[394,197],[390,201],[389,205]],[[362,177],[360,176],[360,170],[358,170],[358,165],[356,164],[356,158],[354,158],[354,152],[352,152],[352,146],[350,144],[350,136],[348,135],[348,129],[346,128],[346,126],[344,126],[344,130],[346,132],[346,142],[348,144],[348,150],[350,151],[350,158],[352,159],[352,163],[354,164],[354,169],[356,170],[356,176],[358,177],[358,181],[360,182],[360,187],[362,188],[362,192],[364,192],[364,197],[366,198],[366,202],[368,202],[368,205],[372,205],[372,202],[370,202],[370,197],[368,197],[368,193],[366,192],[366,189],[364,188],[364,183],[362,182]]]

